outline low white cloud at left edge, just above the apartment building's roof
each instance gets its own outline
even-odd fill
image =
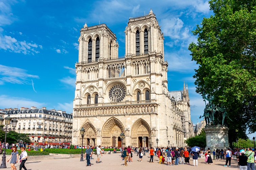
[[[28,108],[31,106],[36,106],[37,108],[45,106],[45,103],[35,102],[29,98],[0,95],[0,108],[15,108],[18,104],[20,107]]]

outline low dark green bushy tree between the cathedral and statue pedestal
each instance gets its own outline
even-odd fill
[[[196,135],[194,137],[190,137],[185,142],[188,144],[190,147],[198,146],[205,148],[206,147],[206,136],[205,136],[205,131],[202,130],[199,135]]]

